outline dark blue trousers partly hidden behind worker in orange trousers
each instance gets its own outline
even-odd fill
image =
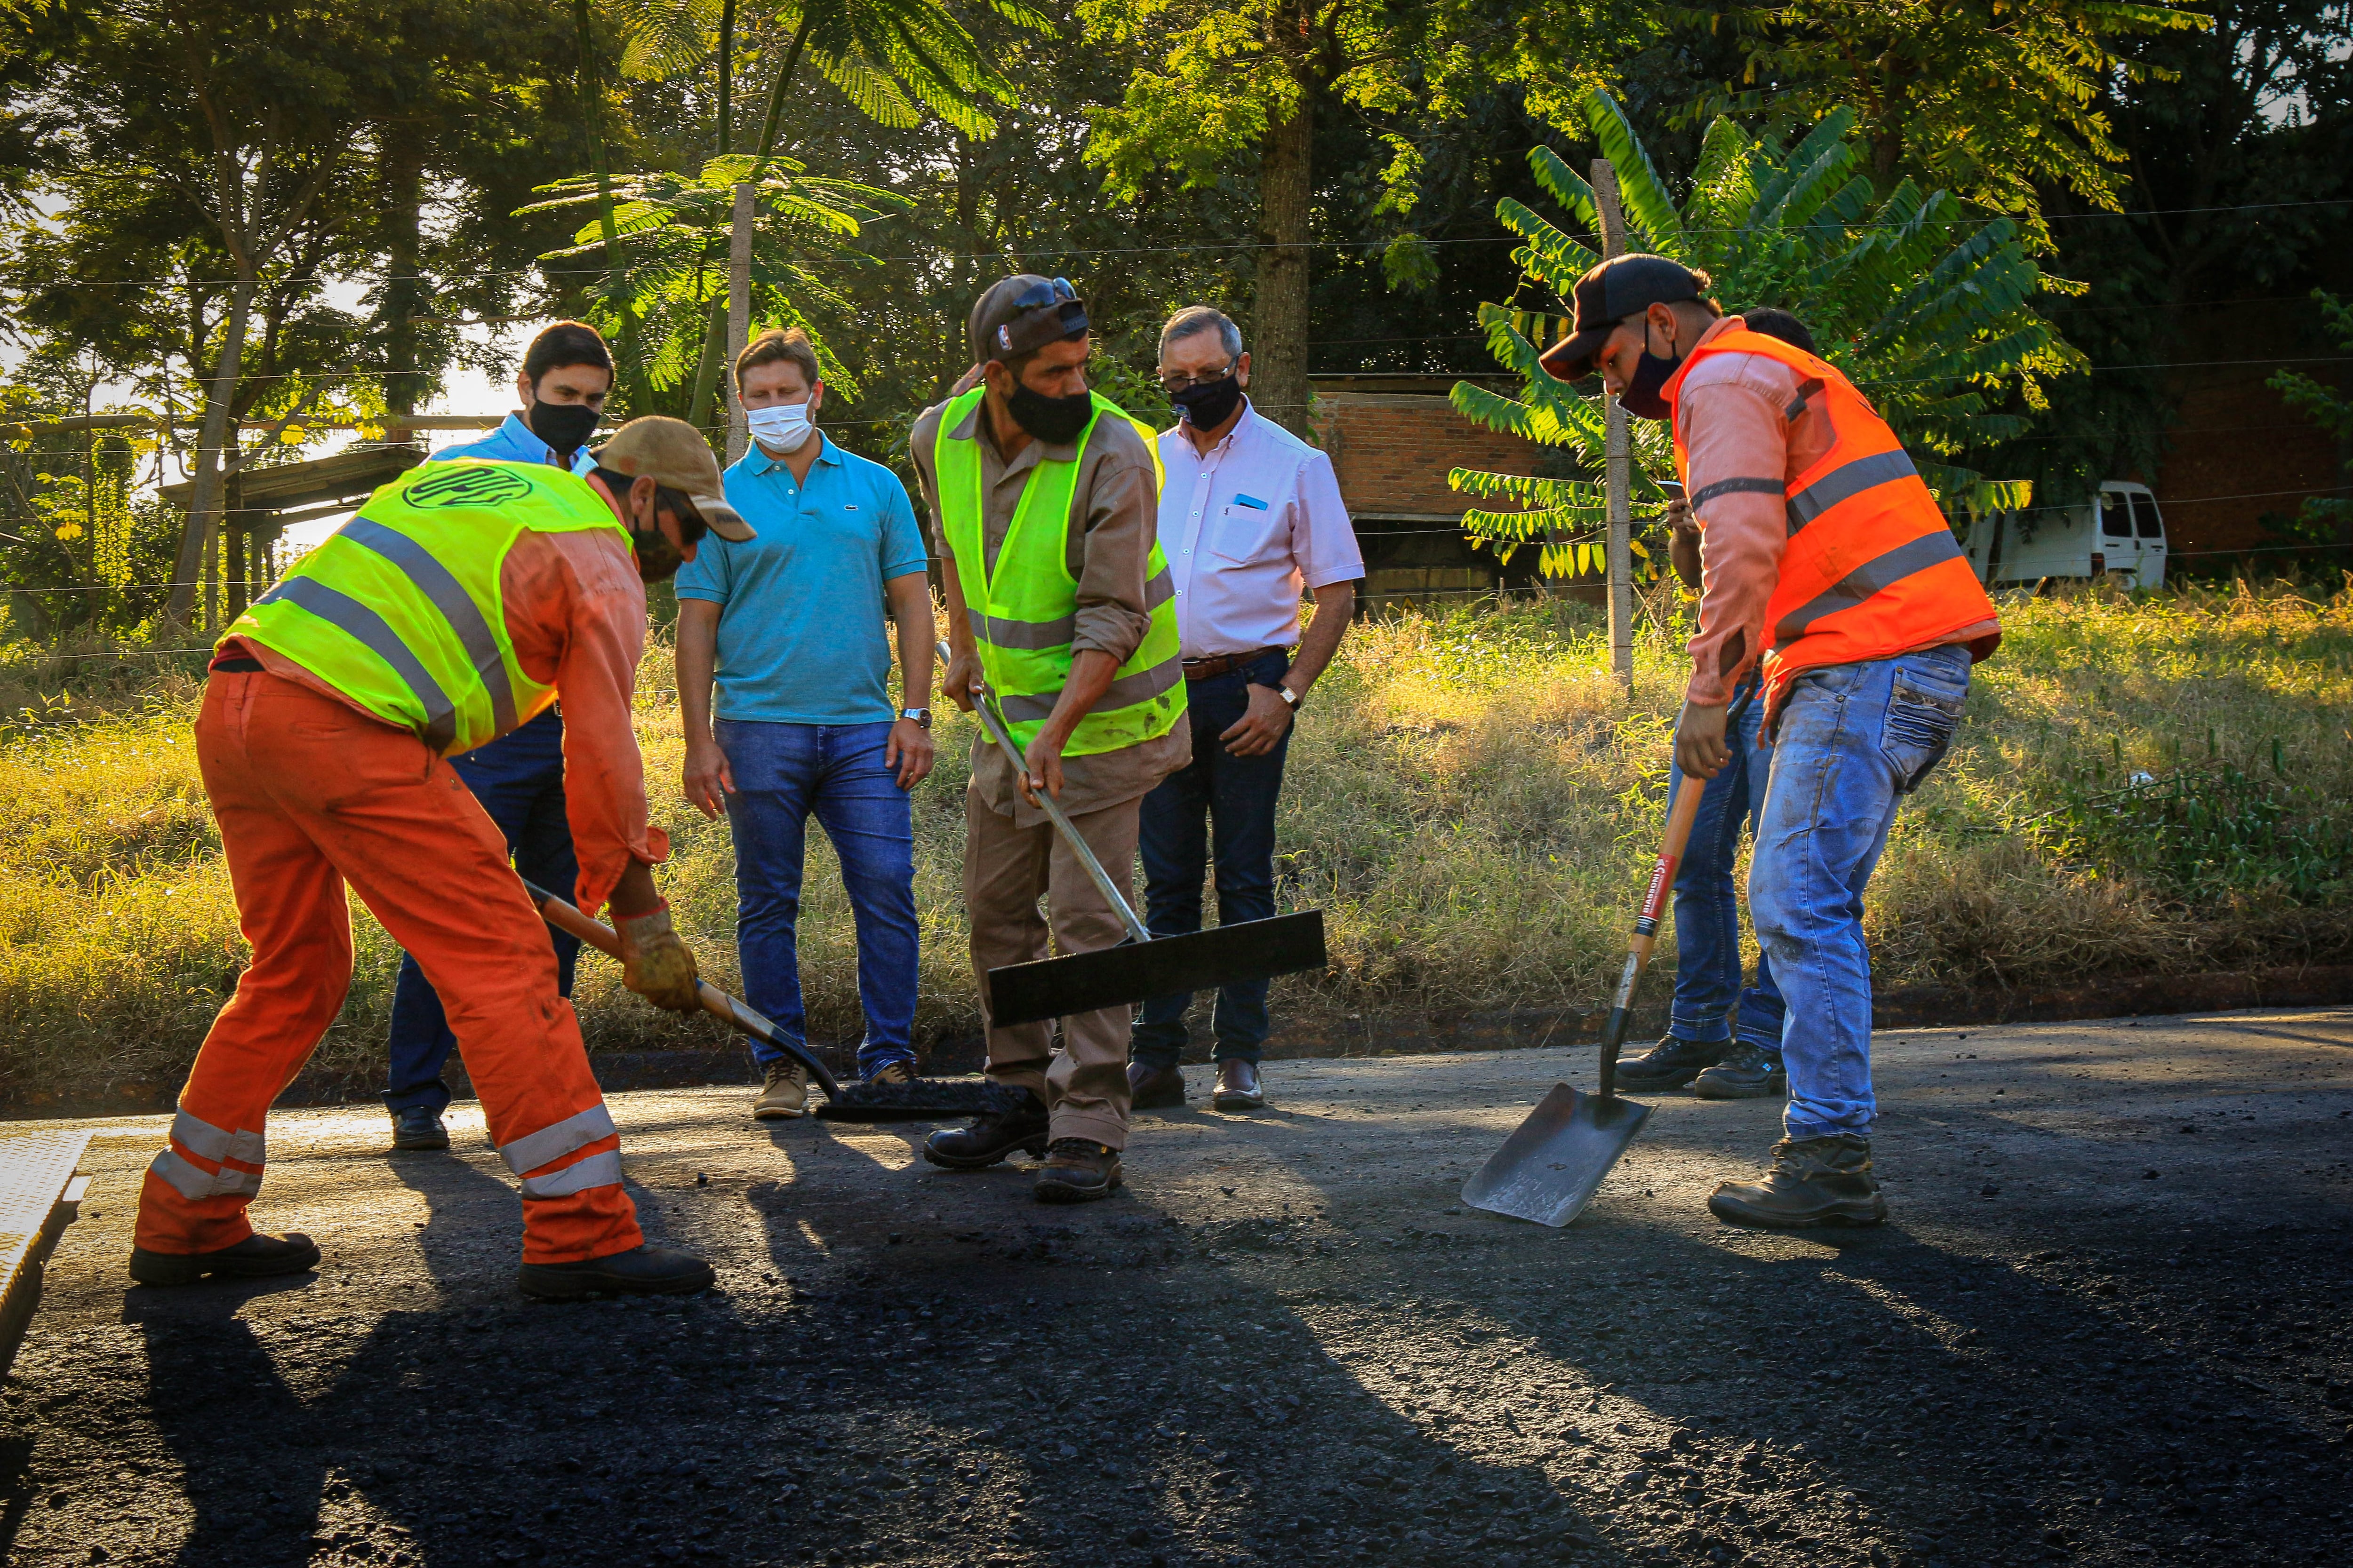
[[[565,724],[555,710],[513,729],[449,766],[466,780],[482,811],[506,835],[506,853],[515,870],[560,898],[576,898],[579,860],[572,853],[572,823],[565,818]],[[572,994],[572,969],[581,943],[548,926],[555,943],[555,990]],[[449,1084],[442,1067],[456,1046],[440,997],[416,959],[400,954],[400,978],[393,980],[393,1025],[386,1039],[388,1081],[384,1103],[398,1110],[426,1105],[438,1117],[449,1110]]]

